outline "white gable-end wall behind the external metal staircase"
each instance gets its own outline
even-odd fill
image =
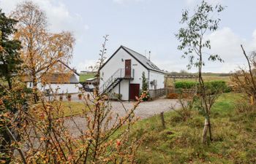
[[[123,59],[123,61],[122,61]],[[148,69],[142,66],[138,60],[132,58],[126,51],[122,48],[116,52],[116,55],[113,55],[108,63],[100,70],[100,82],[99,88],[102,87],[104,82],[106,82],[109,77],[111,77],[118,69],[124,69],[125,60],[131,59],[132,69],[134,69],[134,79],[131,79],[131,84],[140,84],[140,89],[142,87],[142,73],[145,71],[146,78],[148,78]],[[123,70],[122,70],[123,71]],[[103,76],[102,76],[103,75]],[[123,79],[120,83],[122,100],[129,100],[129,80]],[[112,93],[118,93],[118,85],[113,88]]]

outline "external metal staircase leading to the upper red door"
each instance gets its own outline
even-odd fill
[[[99,87],[99,93],[110,93],[123,79],[133,79],[133,77],[134,69],[132,69],[132,74],[129,77],[125,76],[124,69],[118,69],[101,87]]]

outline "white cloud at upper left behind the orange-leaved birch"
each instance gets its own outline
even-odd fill
[[[3,12],[9,13],[16,5],[24,0],[0,0]],[[82,17],[77,13],[70,13],[67,6],[59,0],[33,0],[46,12],[50,31],[72,31],[76,38],[83,34],[89,26],[83,23]]]

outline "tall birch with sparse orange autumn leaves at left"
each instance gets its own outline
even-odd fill
[[[59,69],[59,60],[70,62],[75,39],[68,31],[59,34],[48,32],[45,12],[32,1],[18,4],[12,17],[19,21],[15,38],[22,43],[21,57],[26,75],[33,82],[34,101],[37,101],[37,84],[49,72]]]

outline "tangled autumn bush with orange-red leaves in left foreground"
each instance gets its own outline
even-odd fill
[[[107,37],[100,51],[97,84]],[[131,137],[130,129],[138,120],[135,109],[146,94],[141,94],[119,116],[112,112],[108,94],[100,94],[97,85],[92,95],[82,93],[85,107],[80,117],[84,124],[78,125],[70,101],[71,116],[67,121],[63,102],[56,93],[50,100],[38,95],[39,101],[35,103],[33,94],[23,92],[24,89],[26,85],[19,81],[12,90],[4,85],[0,88],[1,163],[135,163],[141,138],[136,134]],[[7,135],[3,136],[3,131]],[[8,138],[8,134],[12,137]],[[15,149],[18,153],[14,153]]]

